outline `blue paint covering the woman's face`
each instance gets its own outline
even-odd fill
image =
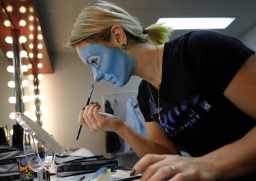
[[[119,48],[90,44],[77,50],[83,62],[91,67],[94,80],[104,79],[117,86],[124,86],[136,68],[136,60]]]

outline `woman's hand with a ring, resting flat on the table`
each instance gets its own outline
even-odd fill
[[[147,154],[134,167],[135,174],[143,173],[141,181],[213,181],[214,171],[200,159],[170,154]]]

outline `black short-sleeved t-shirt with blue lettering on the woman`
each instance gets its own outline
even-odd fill
[[[253,50],[215,31],[190,31],[167,42],[162,60],[160,122],[147,82],[138,101],[145,121],[156,121],[167,137],[191,156],[201,156],[236,141],[256,120],[223,96]],[[151,86],[151,85],[150,85]],[[157,103],[157,91],[151,86]]]

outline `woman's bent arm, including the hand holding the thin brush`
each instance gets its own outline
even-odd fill
[[[147,135],[149,139],[143,137],[137,131],[134,131],[121,118],[98,112],[100,105],[91,103],[79,113],[78,122],[91,131],[113,131],[120,135],[136,152],[139,157],[148,153],[155,154],[180,154],[179,149],[173,144],[160,125],[156,122],[146,122]]]

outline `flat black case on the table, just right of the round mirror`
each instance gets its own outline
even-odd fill
[[[61,159],[63,160],[63,163],[60,163]],[[106,159],[103,156],[94,156],[94,157],[64,156],[59,158],[56,157],[55,163],[57,164],[58,177],[88,174],[88,173],[97,171],[98,169],[100,169],[100,167],[108,167],[114,170],[118,166],[118,162],[115,158]]]

